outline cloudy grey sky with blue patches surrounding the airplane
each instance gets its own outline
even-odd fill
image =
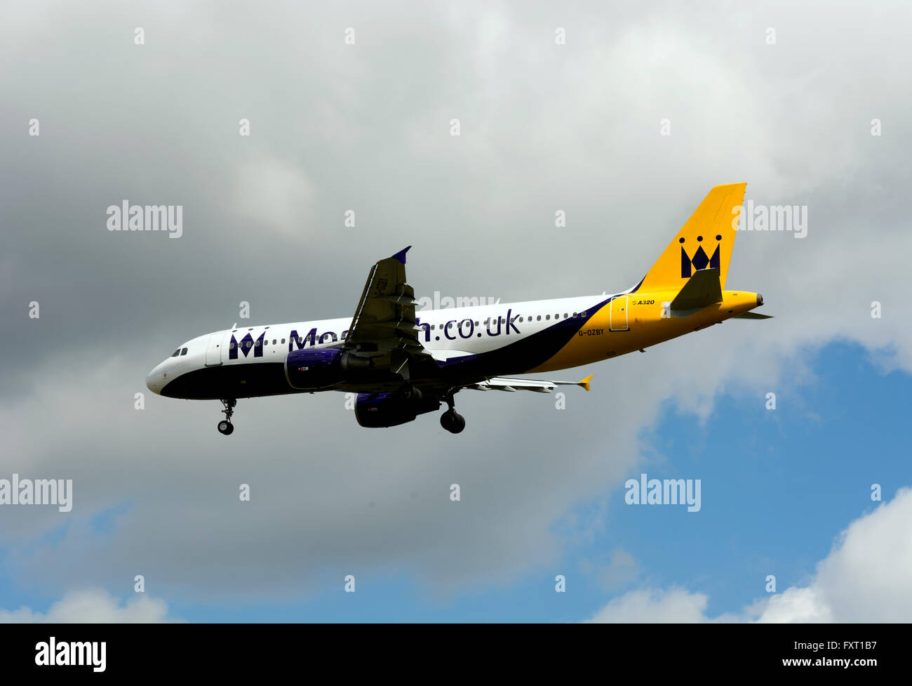
[[[73,503],[0,504],[0,621],[912,617],[912,8],[2,12],[0,479]],[[627,289],[729,182],[806,208],[733,251],[774,318],[554,372],[595,374],[563,409],[465,391],[451,435],[306,394],[239,401],[227,439],[145,387],[241,303],[349,316],[405,245],[417,296]],[[124,201],[181,205],[181,237],[109,231]],[[699,510],[628,504],[644,473]]]

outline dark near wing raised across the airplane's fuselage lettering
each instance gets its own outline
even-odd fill
[[[389,369],[397,373],[407,370],[409,358],[430,359],[418,339],[415,290],[405,281],[410,247],[371,268],[345,340],[345,347],[360,355],[389,356]],[[377,361],[383,365],[382,359]]]

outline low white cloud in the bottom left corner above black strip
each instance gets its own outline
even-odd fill
[[[107,591],[71,591],[57,600],[47,613],[31,608],[0,609],[0,624],[148,624],[179,621],[168,617],[168,605],[161,598],[138,595],[125,603]]]

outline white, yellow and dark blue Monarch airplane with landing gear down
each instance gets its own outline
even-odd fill
[[[580,381],[516,379],[612,359],[726,319],[767,319],[759,293],[725,290],[747,183],[715,186],[637,286],[614,295],[416,311],[409,247],[373,265],[353,317],[204,334],[152,369],[169,398],[221,400],[218,430],[234,431],[238,398],[335,390],[357,393],[362,427],[391,427],[438,411],[465,428],[460,390],[589,390]]]

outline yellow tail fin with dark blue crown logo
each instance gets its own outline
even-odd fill
[[[724,289],[746,188],[747,183],[726,183],[707,193],[700,207],[652,265],[639,290],[678,291],[694,272],[710,267],[719,267]]]

